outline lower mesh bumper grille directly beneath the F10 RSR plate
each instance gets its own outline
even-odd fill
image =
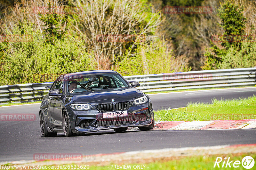
[[[103,118],[98,119],[98,126],[105,127],[105,126],[118,126],[123,124],[132,124],[132,116],[125,116],[125,117],[112,117],[112,118]]]

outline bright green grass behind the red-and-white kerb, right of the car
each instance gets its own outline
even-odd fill
[[[155,121],[200,121],[256,119],[256,96],[212,100],[212,104],[189,103],[185,108],[159,110]]]

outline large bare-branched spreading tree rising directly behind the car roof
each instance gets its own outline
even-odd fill
[[[133,50],[136,41],[153,35],[161,23],[161,13],[145,1],[77,0],[74,5],[81,6],[80,23],[75,20],[74,27],[94,53],[98,69],[109,69],[127,48]]]

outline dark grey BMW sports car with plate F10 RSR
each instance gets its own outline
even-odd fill
[[[113,70],[60,75],[40,106],[43,137],[56,136],[57,132],[68,137],[105,129],[153,129],[150,98],[137,90],[138,86],[138,82],[127,82]]]

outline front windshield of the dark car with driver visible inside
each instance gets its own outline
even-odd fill
[[[80,74],[67,79],[68,93],[129,87],[119,74]]]

